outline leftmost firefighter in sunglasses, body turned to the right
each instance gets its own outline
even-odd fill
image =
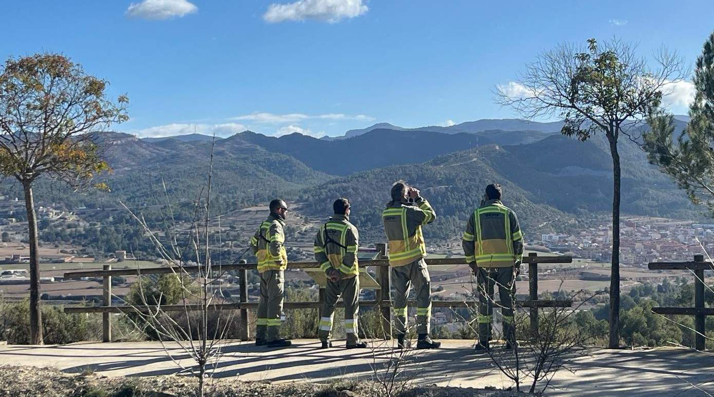
[[[258,303],[256,346],[271,348],[290,346],[291,342],[280,337],[281,313],[283,312],[284,271],[288,266],[285,251],[285,214],[288,205],[275,199],[270,202],[270,216],[251,238],[253,253],[258,257],[258,273],[261,276],[261,298]]]

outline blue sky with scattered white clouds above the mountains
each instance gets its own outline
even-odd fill
[[[563,41],[693,63],[714,1],[5,1],[0,57],[61,52],[129,95],[139,136],[342,135],[516,114],[493,89]],[[681,84],[668,99],[686,112]]]

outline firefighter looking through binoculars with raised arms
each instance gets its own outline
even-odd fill
[[[397,181],[391,189],[392,200],[382,212],[384,231],[389,243],[389,266],[394,286],[394,328],[399,348],[408,347],[405,341],[407,297],[411,284],[416,289],[416,348],[438,348],[440,342],[429,336],[431,320],[431,278],[426,268],[426,245],[421,226],[436,219],[436,212],[419,191],[404,181]]]

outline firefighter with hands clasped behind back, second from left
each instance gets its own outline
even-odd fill
[[[347,348],[366,348],[359,340],[357,313],[359,312],[359,267],[357,247],[359,233],[350,223],[350,202],[338,198],[332,205],[334,216],[315,236],[315,260],[327,276],[325,302],[320,312],[320,341],[322,348],[331,348],[333,316],[337,300],[345,303],[345,333]]]

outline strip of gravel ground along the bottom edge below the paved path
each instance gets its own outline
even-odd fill
[[[196,378],[190,376],[109,378],[95,373],[64,373],[52,368],[0,367],[0,396],[195,396],[197,385]],[[386,393],[381,385],[371,381],[268,383],[217,379],[206,381],[206,396],[372,397],[386,396]],[[509,397],[518,394],[502,390],[436,386],[408,388],[401,393],[401,397],[466,396]]]

